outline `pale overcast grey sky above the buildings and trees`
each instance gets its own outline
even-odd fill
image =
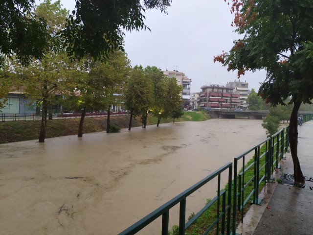
[[[61,0],[73,10],[75,0]],[[191,92],[200,92],[201,86],[226,85],[237,79],[237,72],[228,72],[213,56],[228,51],[240,36],[230,24],[233,15],[224,0],[173,0],[168,15],[158,10],[146,11],[146,25],[150,31],[127,32],[125,51],[132,66],[156,66],[162,70],[183,71],[192,79]],[[249,89],[258,91],[265,71],[247,72],[241,81]]]

